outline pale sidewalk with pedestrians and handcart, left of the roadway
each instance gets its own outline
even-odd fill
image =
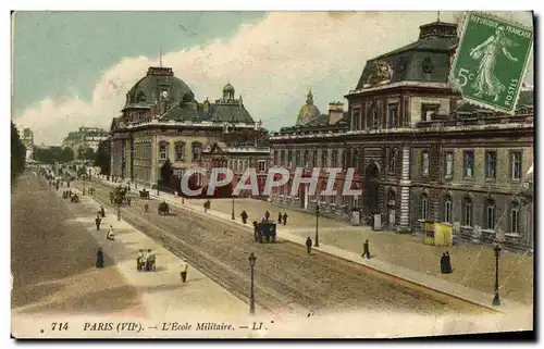
[[[72,188],[74,191],[78,191]],[[59,195],[62,190],[59,190]],[[249,306],[231,295],[206,275],[189,265],[187,282],[181,281],[182,259],[161,245],[136,230],[124,221],[118,221],[114,212],[107,212],[100,230],[96,230],[95,217],[100,204],[89,196],[79,196],[81,202],[71,204],[77,220],[84,224],[88,234],[102,247],[104,254],[113,259],[121,274],[140,294],[146,308],[146,319],[174,320],[188,314],[198,314],[199,319],[217,316],[247,316]],[[106,233],[112,225],[115,240],[106,239]],[[156,272],[138,272],[136,255],[139,249],[151,249],[157,257]],[[104,265],[106,266],[106,265]],[[262,309],[257,309],[263,313]]]

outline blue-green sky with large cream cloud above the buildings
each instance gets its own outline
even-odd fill
[[[495,13],[532,26],[527,12]],[[366,61],[417,40],[436,12],[15,12],[12,120],[36,144],[81,126],[109,130],[151,65],[171,66],[199,101],[230,82],[254,120],[293,125],[308,89],[326,113]],[[460,13],[441,12],[457,22]],[[526,82],[532,85],[530,64]]]

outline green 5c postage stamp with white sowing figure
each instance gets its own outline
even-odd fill
[[[469,12],[452,66],[450,84],[469,102],[514,114],[532,46],[532,29]]]

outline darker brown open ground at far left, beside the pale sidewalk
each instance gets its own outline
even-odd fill
[[[12,309],[21,314],[113,315],[143,310],[141,300],[57,194],[33,174],[12,191]],[[38,182],[39,180],[39,182]]]

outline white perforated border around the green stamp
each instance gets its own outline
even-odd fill
[[[534,12],[533,11],[528,11],[528,12],[531,12],[531,16],[534,18]],[[504,108],[498,108],[496,105],[492,105],[492,104],[487,104],[487,103],[482,103],[479,100],[474,100],[472,98],[465,97],[462,95],[461,88],[459,87],[459,84],[457,83],[457,78],[455,76],[455,67],[457,66],[457,50],[459,48],[459,45],[462,42],[462,39],[465,38],[465,34],[467,32],[466,29],[467,29],[467,26],[468,26],[467,18],[471,14],[478,14],[478,15],[481,15],[481,16],[489,17],[491,20],[497,21],[497,22],[502,22],[502,23],[515,25],[515,26],[518,26],[518,27],[523,28],[526,30],[529,30],[529,32],[531,32],[533,34],[532,37],[531,37],[531,46],[529,47],[529,50],[528,50],[528,53],[527,53],[527,57],[526,57],[526,62],[523,64],[523,70],[522,70],[522,73],[521,73],[520,84],[518,86],[518,90],[516,91],[516,99],[515,99],[515,101],[512,103],[511,110],[504,109]],[[521,87],[522,87],[523,80],[524,80],[524,78],[527,76],[527,68],[529,66],[529,61],[530,61],[529,58],[533,53],[533,47],[534,47],[534,30],[533,30],[533,28],[531,28],[531,27],[529,27],[527,25],[523,25],[523,24],[521,24],[521,23],[519,23],[517,21],[506,20],[506,18],[503,18],[500,16],[494,15],[492,13],[481,12],[481,11],[468,11],[467,13],[465,13],[465,15],[462,17],[462,21],[461,21],[460,27],[462,28],[461,29],[461,35],[459,37],[459,41],[458,41],[457,47],[455,49],[454,61],[452,63],[452,68],[449,70],[448,84],[449,84],[450,88],[454,91],[456,91],[456,92],[460,92],[461,96],[462,96],[462,99],[465,101],[470,102],[471,104],[474,104],[477,107],[481,107],[481,108],[484,108],[484,109],[491,109],[491,110],[494,110],[494,111],[499,111],[499,112],[503,112],[503,113],[506,113],[506,114],[509,114],[509,115],[515,115],[516,114],[516,107],[518,105],[519,95],[521,94]]]

